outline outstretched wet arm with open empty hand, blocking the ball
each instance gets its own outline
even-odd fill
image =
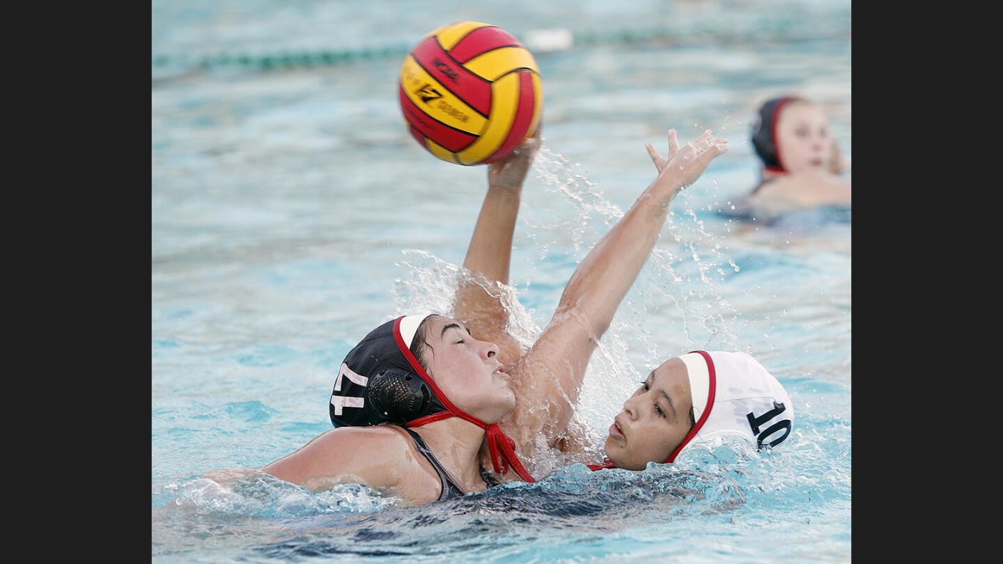
[[[552,446],[560,439],[589,358],[654,248],[669,203],[725,151],[727,142],[710,130],[682,149],[670,130],[667,161],[648,145],[658,178],[578,266],[551,323],[513,370],[516,408],[506,429],[521,450],[529,452],[541,432]]]

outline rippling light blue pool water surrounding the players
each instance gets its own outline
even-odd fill
[[[544,149],[512,266],[532,339],[592,244],[651,182],[644,143],[704,128],[730,151],[674,203],[656,252],[593,357],[581,421],[605,436],[640,379],[693,348],[745,350],[789,391],[773,452],[723,443],[642,473],[546,453],[538,484],[402,508],[357,485],[220,485],[330,429],[333,377],[377,323],[448,310],[485,189],[402,126],[399,59],[261,71],[199,57],[382,48],[450,21],[598,39],[538,53]],[[851,226],[816,211],[739,225],[756,181],[749,120],[796,91],[847,156],[849,2],[514,0],[153,2],[151,553],[157,561],[847,561],[851,549]],[[603,30],[669,30],[633,41]],[[585,37],[585,35],[581,35]],[[363,48],[363,47],[358,47]]]

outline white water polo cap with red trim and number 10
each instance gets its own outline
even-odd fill
[[[695,350],[679,357],[686,364],[696,425],[666,459],[697,441],[741,436],[775,447],[790,435],[794,404],[780,382],[744,352]]]

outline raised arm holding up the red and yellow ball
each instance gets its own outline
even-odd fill
[[[478,280],[461,279],[455,296],[456,319],[478,339],[498,345],[498,360],[510,369],[522,351],[506,330],[509,310],[501,301],[500,285],[509,284],[523,183],[539,148],[540,127],[509,158],[487,166],[487,194],[463,260],[463,267]],[[482,285],[485,282],[486,287]]]

